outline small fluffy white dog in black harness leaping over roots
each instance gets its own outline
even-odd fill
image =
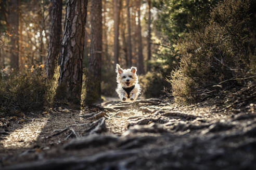
[[[116,92],[122,101],[133,102],[140,93],[140,86],[138,84],[138,76],[136,75],[137,68],[122,69],[117,64],[117,82],[118,87]]]

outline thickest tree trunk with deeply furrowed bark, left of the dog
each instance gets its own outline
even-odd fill
[[[82,63],[87,0],[67,1],[66,19],[61,47],[59,86],[56,97],[80,108]]]

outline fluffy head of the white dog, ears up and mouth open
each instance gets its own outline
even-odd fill
[[[124,88],[133,86],[138,82],[138,76],[136,75],[137,68],[131,67],[129,69],[122,69],[119,64],[117,64],[117,82]]]

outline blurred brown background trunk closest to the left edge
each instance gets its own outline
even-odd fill
[[[10,66],[16,70],[19,69],[19,1],[9,1],[9,33],[10,37]]]

